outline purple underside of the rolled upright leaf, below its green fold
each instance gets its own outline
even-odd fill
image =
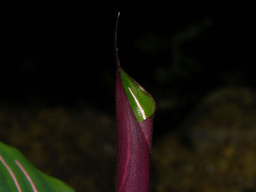
[[[117,55],[117,54],[116,54]],[[138,122],[126,96],[117,57],[117,192],[148,192],[154,114]]]

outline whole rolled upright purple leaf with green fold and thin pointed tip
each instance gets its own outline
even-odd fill
[[[120,65],[117,53],[117,23],[115,55],[118,143],[116,191],[148,192],[156,105],[151,95],[126,74]]]

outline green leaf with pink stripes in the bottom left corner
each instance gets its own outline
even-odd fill
[[[73,192],[58,179],[37,170],[15,148],[0,142],[0,192]]]

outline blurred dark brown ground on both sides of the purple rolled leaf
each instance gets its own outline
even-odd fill
[[[199,101],[176,131],[154,143],[150,190],[256,191],[255,98],[249,89],[224,87]],[[0,129],[1,141],[76,191],[115,190],[114,116],[91,107],[5,104]]]

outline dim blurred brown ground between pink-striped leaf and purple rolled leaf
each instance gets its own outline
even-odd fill
[[[11,106],[0,111],[0,129],[1,141],[76,191],[115,188],[115,119],[92,109]]]

